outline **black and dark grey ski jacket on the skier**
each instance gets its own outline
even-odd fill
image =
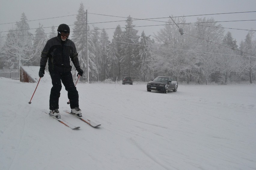
[[[45,68],[48,60],[49,72],[70,72],[72,66],[69,58],[71,58],[75,68],[80,69],[75,43],[69,39],[62,41],[59,36],[53,37],[47,41],[41,52],[40,67]]]

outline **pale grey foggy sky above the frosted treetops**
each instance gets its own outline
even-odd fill
[[[39,22],[43,27],[57,26],[65,23],[71,25],[74,28],[74,22],[76,16],[67,16],[78,14],[80,3],[83,2],[84,10],[88,10],[88,23],[94,22],[108,22],[108,21],[120,21],[126,20],[125,18],[113,17],[131,16],[138,19],[148,18],[161,18],[169,16],[188,16],[188,15],[202,15],[213,13],[233,13],[233,12],[246,12],[256,11],[256,0],[215,0],[215,1],[200,1],[200,0],[184,0],[184,1],[172,1],[172,0],[62,0],[62,1],[50,1],[50,0],[0,0],[0,31],[8,31],[8,29],[15,26],[13,24],[3,24],[20,21],[21,14],[24,12],[28,20],[53,18],[59,16],[66,16],[54,19],[44,19],[38,21],[29,21],[30,28],[38,28]],[[112,15],[102,16],[96,14]],[[216,21],[233,21],[233,20],[249,20],[256,19],[256,13],[237,13],[237,14],[219,14],[219,15],[207,15],[207,16],[190,16],[186,17],[187,22],[196,22],[197,17],[210,18],[213,17]],[[158,21],[167,21],[168,19],[154,19]],[[108,32],[109,39],[112,39],[114,29],[120,24],[121,27],[125,27],[126,22],[110,22],[94,24],[99,28],[105,28]],[[145,26],[145,25],[161,25],[164,22],[155,21],[133,21],[133,25]],[[226,28],[238,28],[238,29],[256,29],[256,21],[244,21],[244,22],[218,22]],[[90,24],[90,28],[93,26]],[[145,34],[153,35],[160,31],[163,26],[147,26],[136,27],[139,30],[138,35],[144,30]],[[124,28],[122,28],[124,30]],[[50,32],[50,28],[44,28],[45,33]],[[225,29],[225,33],[230,31],[233,38],[236,39],[237,45],[241,40],[245,39],[248,31]],[[32,34],[35,34],[35,29],[30,30]],[[5,33],[2,33],[2,36]],[[47,34],[49,35],[49,34]],[[254,34],[256,37],[256,34]],[[254,38],[255,38],[254,37]]]

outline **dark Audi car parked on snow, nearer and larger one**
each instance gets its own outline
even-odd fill
[[[147,84],[147,91],[151,90],[162,91],[168,93],[169,90],[177,92],[178,82],[174,77],[158,76]]]

